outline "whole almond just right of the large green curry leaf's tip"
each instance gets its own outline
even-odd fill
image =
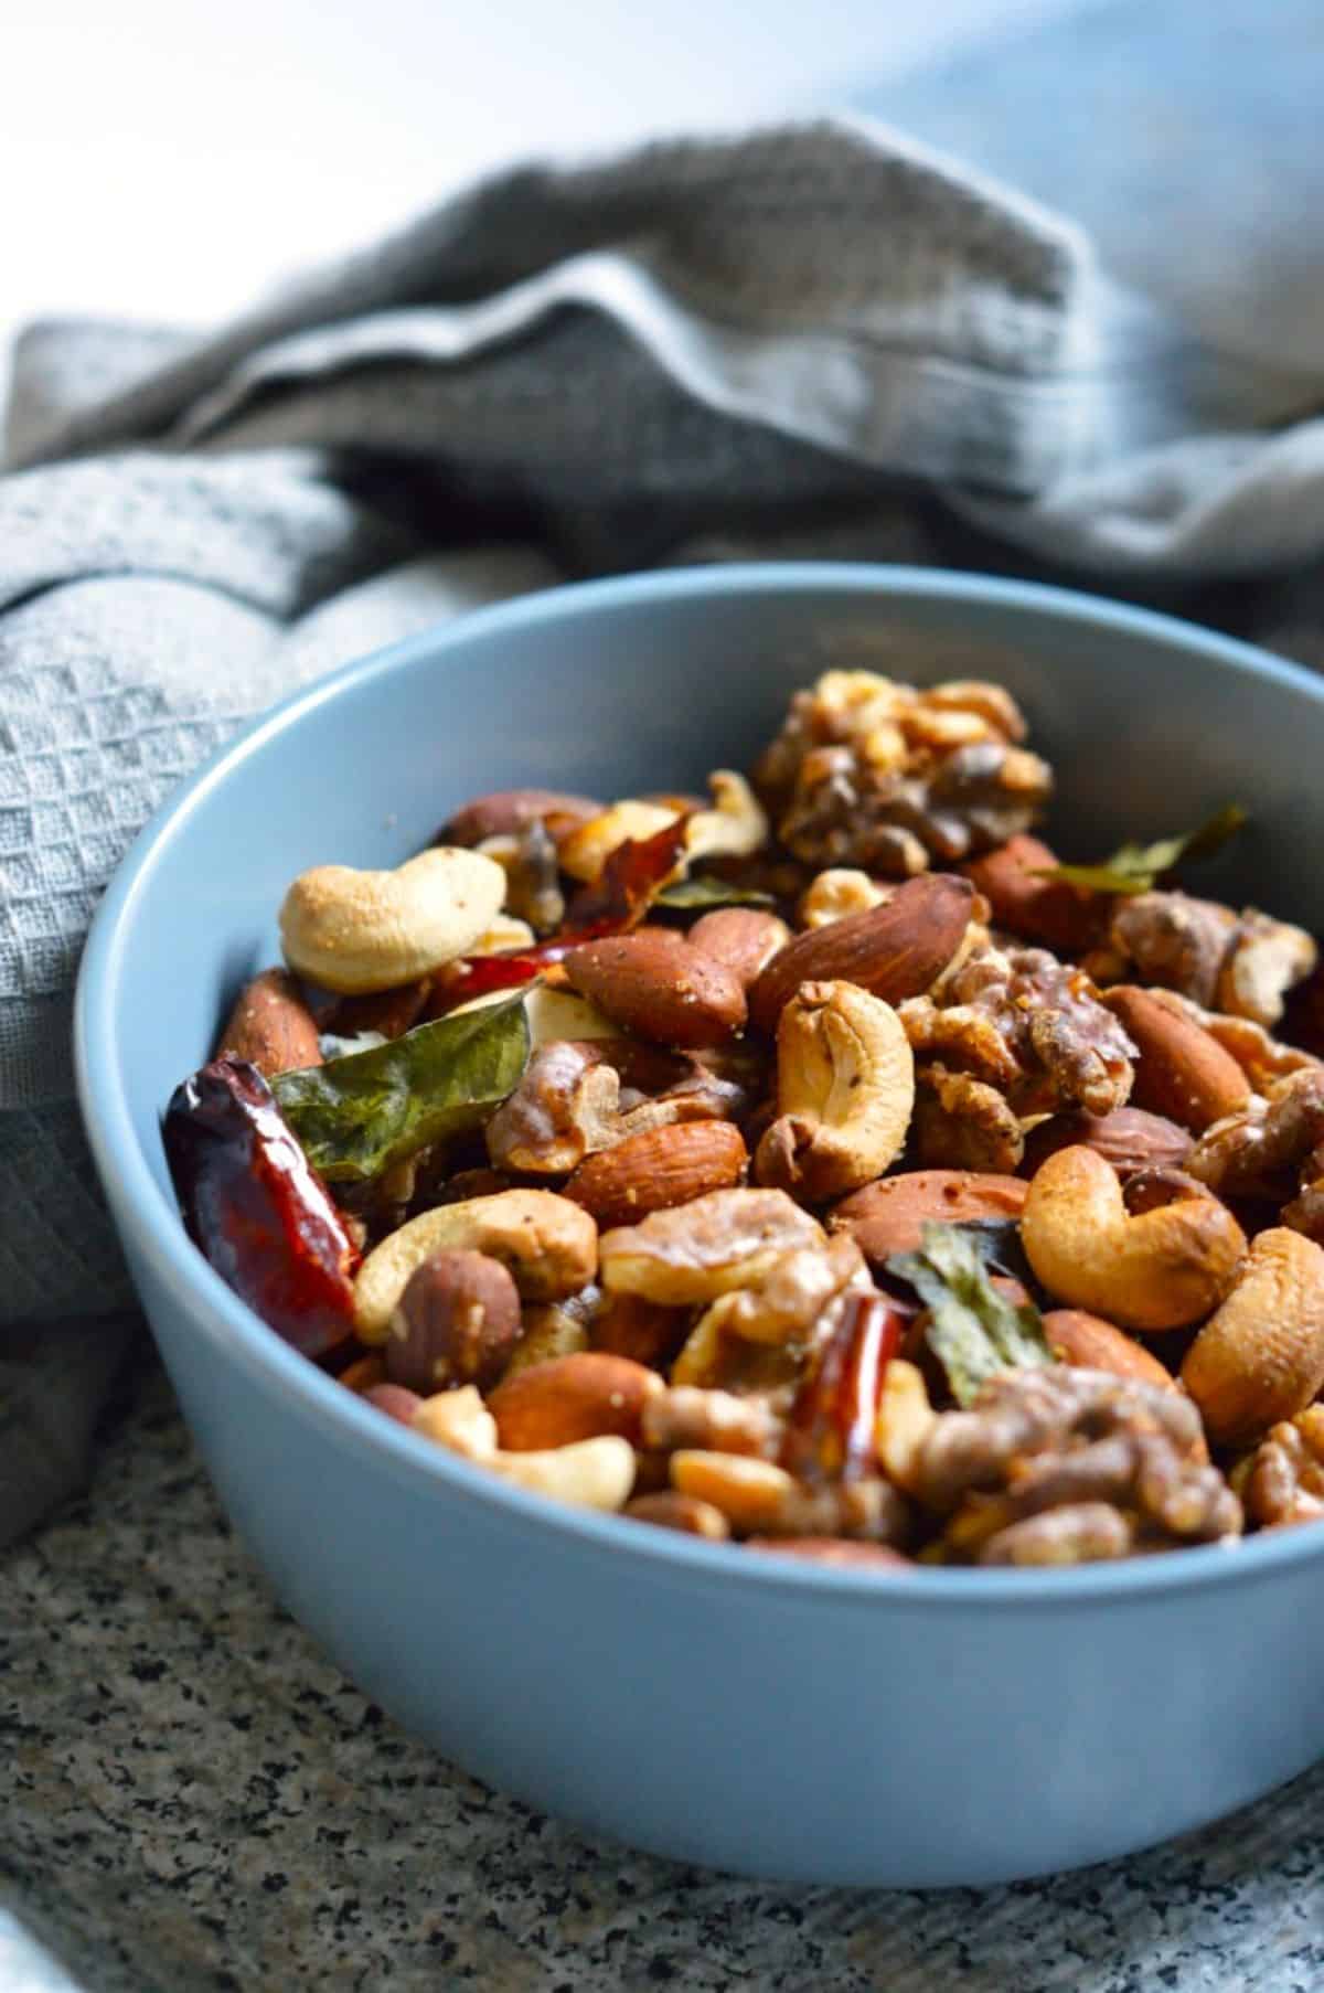
[[[746,1020],[740,979],[670,927],[586,941],[564,959],[570,987],[654,1044],[724,1044]]]

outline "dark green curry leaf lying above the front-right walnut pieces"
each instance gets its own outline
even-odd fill
[[[959,1405],[969,1405],[999,1371],[1057,1361],[1039,1309],[1031,1301],[1017,1305],[993,1285],[995,1252],[971,1226],[927,1224],[919,1252],[887,1260],[887,1272],[909,1281],[929,1309],[929,1349]]]

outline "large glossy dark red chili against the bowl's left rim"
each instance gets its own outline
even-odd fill
[[[162,1140],[183,1222],[221,1280],[303,1355],[343,1343],[359,1254],[257,1066],[213,1058],[191,1074]]]

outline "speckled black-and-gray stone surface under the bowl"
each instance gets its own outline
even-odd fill
[[[152,1359],[90,1495],[0,1565],[0,1873],[92,1993],[1324,1985],[1324,1768],[1133,1861],[935,1895],[732,1881],[487,1792],[273,1604]]]

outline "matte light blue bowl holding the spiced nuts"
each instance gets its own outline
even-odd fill
[[[947,1885],[1101,1861],[1324,1752],[1324,1529],[1063,1572],[879,1578],[552,1507],[287,1349],[205,1266],[158,1114],[307,865],[393,865],[514,783],[628,795],[746,763],[828,664],[1001,678],[1079,853],[1252,833],[1210,889],[1324,925],[1324,686],[1081,596],[913,570],[564,588],[301,692],[134,845],[78,991],[130,1268],[235,1527],[367,1694],[532,1806],[750,1875]],[[1318,835],[1316,835],[1318,833]]]

